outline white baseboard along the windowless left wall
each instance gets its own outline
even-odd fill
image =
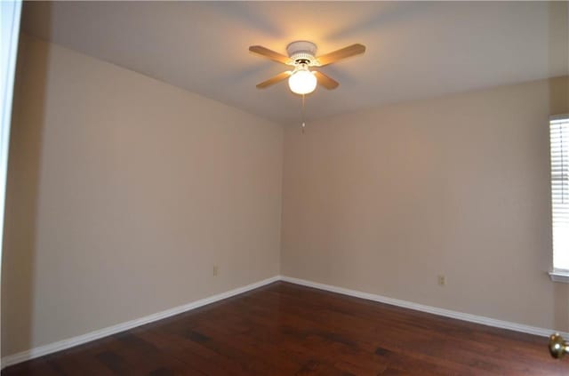
[[[107,337],[111,334],[116,334],[117,332],[124,332],[140,325],[152,323],[157,320],[162,320],[163,318],[166,317],[175,316],[180,313],[187,312],[189,310],[196,309],[199,307],[203,307],[207,304],[211,304],[219,300],[230,298],[232,296],[238,295],[243,292],[254,290],[266,284],[272,284],[273,282],[276,282],[278,280],[280,280],[280,276],[273,276],[271,278],[255,282],[254,284],[247,284],[246,286],[237,287],[234,290],[230,290],[228,292],[221,292],[219,294],[210,296],[208,298],[192,301],[191,303],[185,304],[183,306],[166,309],[162,312],[158,312],[150,316],[140,317],[131,321],[127,321],[126,323],[108,326],[107,328],[103,328],[94,332],[88,332],[86,334],[69,338],[67,340],[60,340],[44,346],[40,346],[38,348],[31,348],[29,350],[22,351],[17,354],[4,356],[2,358],[1,368],[4,369],[4,367],[7,367],[12,364],[18,364],[39,356],[52,354],[56,351],[64,350],[66,348],[72,348],[74,346],[83,345],[86,342],[90,342],[92,340],[99,340],[100,338]]]

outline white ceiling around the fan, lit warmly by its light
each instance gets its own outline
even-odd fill
[[[567,3],[57,2],[26,3],[31,35],[267,117],[300,120],[287,68],[248,52],[319,52],[365,44],[364,55],[322,68],[340,82],[307,97],[307,117],[417,100],[569,72]]]

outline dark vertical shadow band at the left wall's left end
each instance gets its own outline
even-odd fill
[[[32,347],[36,218],[49,51],[45,48],[31,56],[26,42],[25,36],[20,36],[6,186],[2,356]],[[32,61],[34,68],[30,70]]]

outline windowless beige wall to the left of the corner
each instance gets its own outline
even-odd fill
[[[281,126],[22,42],[4,356],[278,274]]]

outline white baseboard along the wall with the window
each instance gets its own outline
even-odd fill
[[[317,282],[307,281],[305,279],[293,278],[291,276],[281,276],[280,279],[281,281],[290,282],[291,284],[301,284],[303,286],[313,287],[315,289],[325,290],[327,292],[337,292],[343,295],[349,295],[356,298],[379,301],[381,303],[386,303],[392,306],[409,308],[416,311],[427,312],[438,316],[452,317],[463,321],[469,321],[470,323],[483,324],[483,325],[493,326],[496,328],[508,329],[510,331],[515,331],[515,332],[525,332],[528,334],[535,334],[544,337],[549,337],[551,333],[556,332],[552,329],[544,329],[544,328],[539,328],[537,326],[511,323],[509,321],[497,320],[495,318],[490,318],[485,316],[470,315],[467,313],[452,311],[444,308],[425,306],[423,304],[413,303],[412,301],[388,298],[386,296],[376,295],[373,293],[358,292],[356,290],[349,290],[343,287],[333,286],[331,284],[319,284]],[[560,332],[560,333],[565,338],[569,337],[569,333],[567,332]]]

